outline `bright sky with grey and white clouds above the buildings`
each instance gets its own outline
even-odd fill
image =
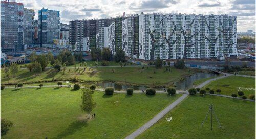
[[[16,0],[25,8],[60,11],[60,21],[144,13],[228,14],[237,16],[237,31],[255,31],[255,0]]]

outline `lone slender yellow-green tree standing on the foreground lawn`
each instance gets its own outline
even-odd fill
[[[88,88],[82,89],[82,104],[80,105],[80,108],[83,112],[88,113],[88,115],[90,115],[91,111],[96,106],[96,102],[94,102],[92,94],[93,90]]]

